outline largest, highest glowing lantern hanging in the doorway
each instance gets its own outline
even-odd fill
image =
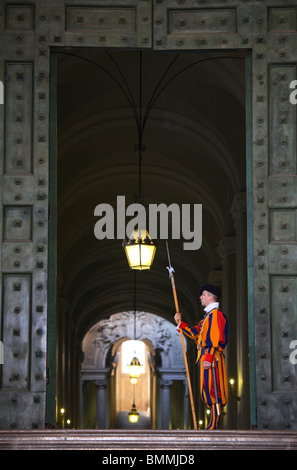
[[[134,231],[128,241],[123,242],[127,260],[131,269],[142,271],[150,269],[156,252],[156,245],[147,230]]]

